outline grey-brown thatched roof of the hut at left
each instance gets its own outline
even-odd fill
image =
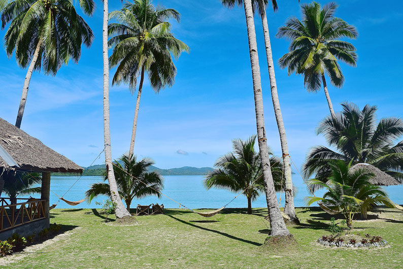
[[[81,166],[0,118],[0,174],[2,170],[83,172]]]

